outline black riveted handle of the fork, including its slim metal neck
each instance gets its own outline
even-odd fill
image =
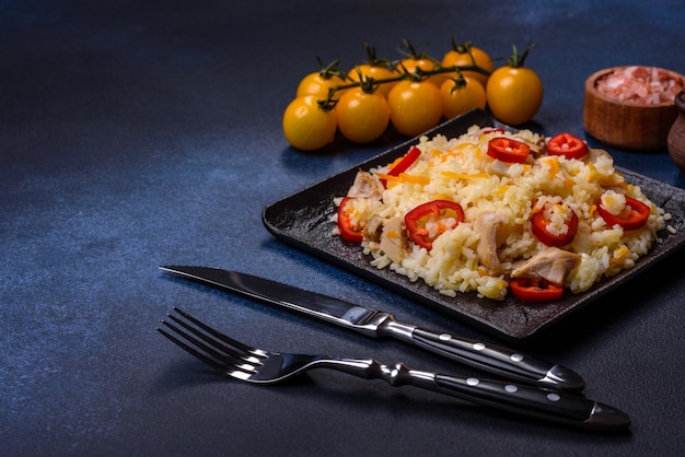
[[[373,360],[347,359],[323,365],[369,379],[381,378],[395,387],[420,387],[508,412],[585,429],[608,431],[630,425],[625,412],[573,392],[512,382],[454,377],[411,370],[403,363],[383,365]]]

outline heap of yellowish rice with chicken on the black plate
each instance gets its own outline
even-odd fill
[[[531,156],[525,163],[492,159],[487,149],[496,137],[530,145]],[[627,183],[605,151],[591,149],[580,160],[567,159],[548,155],[547,141],[530,130],[473,126],[458,138],[421,137],[416,144],[420,156],[398,176],[388,175],[396,162],[359,171],[367,190],[360,194],[357,183],[351,184],[346,210],[350,223],[363,233],[360,249],[376,268],[425,281],[448,296],[476,292],[503,300],[512,277],[545,276],[522,269],[550,250],[533,234],[532,215],[544,211],[547,230],[564,234],[572,209],[578,215],[577,232],[569,244],[552,253],[573,259],[557,277],[559,285],[581,293],[602,278],[634,267],[659,241],[658,232],[666,226],[669,214],[640,187]],[[342,197],[335,199],[336,206]],[[597,204],[602,204],[618,214],[626,197],[649,206],[649,218],[638,230],[609,226],[597,213]],[[464,218],[443,226],[428,249],[407,236],[404,216],[433,200],[457,202]],[[340,233],[337,224],[333,231]],[[489,246],[486,237],[491,238]],[[557,267],[558,262],[552,268]]]

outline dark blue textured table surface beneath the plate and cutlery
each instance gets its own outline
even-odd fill
[[[685,267],[677,251],[521,348],[581,373],[629,433],[521,420],[382,382],[318,372],[256,387],[219,378],[155,326],[172,306],[266,349],[468,373],[398,342],[161,273],[244,270],[492,339],[293,249],[262,209],[391,144],[302,153],[280,118],[316,57],[494,57],[534,43],[545,84],[531,128],[582,125],[594,71],[685,73],[678,1],[0,1],[0,449],[34,455],[676,455],[685,422]],[[611,150],[685,188],[666,151]]]

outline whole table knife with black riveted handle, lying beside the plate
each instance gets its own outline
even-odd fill
[[[395,316],[266,278],[210,267],[160,266],[163,271],[295,310],[372,338],[393,338],[453,361],[554,390],[584,388],[583,378],[559,364],[486,341],[403,324]]]

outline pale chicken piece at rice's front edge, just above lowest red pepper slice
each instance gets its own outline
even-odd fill
[[[515,268],[511,272],[511,277],[543,278],[553,284],[564,285],[578,263],[580,263],[578,254],[557,247],[548,247]]]

